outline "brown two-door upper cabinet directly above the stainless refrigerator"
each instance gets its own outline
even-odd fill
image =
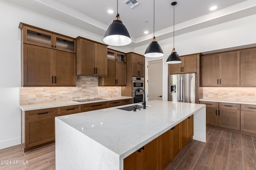
[[[197,55],[181,56],[182,63],[168,64],[169,74],[193,73],[196,72]]]

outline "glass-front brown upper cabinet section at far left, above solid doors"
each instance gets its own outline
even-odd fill
[[[76,53],[76,40],[72,37],[64,36],[25,23],[20,23],[19,28],[22,29],[23,43]]]

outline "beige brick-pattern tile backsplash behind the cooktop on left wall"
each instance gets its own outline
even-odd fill
[[[121,87],[99,87],[93,76],[77,76],[76,87],[20,87],[20,105],[116,96]]]

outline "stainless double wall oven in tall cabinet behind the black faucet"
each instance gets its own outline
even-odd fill
[[[134,92],[137,88],[142,88],[144,90],[144,77],[132,77],[132,103],[139,103],[143,101],[142,90],[137,90],[134,98]]]

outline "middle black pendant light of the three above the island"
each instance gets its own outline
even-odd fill
[[[153,26],[153,37],[151,39],[150,44],[148,45],[148,48],[145,51],[144,56],[145,57],[162,57],[164,55],[162,48],[156,41],[155,37],[155,0],[154,0],[154,26]]]

